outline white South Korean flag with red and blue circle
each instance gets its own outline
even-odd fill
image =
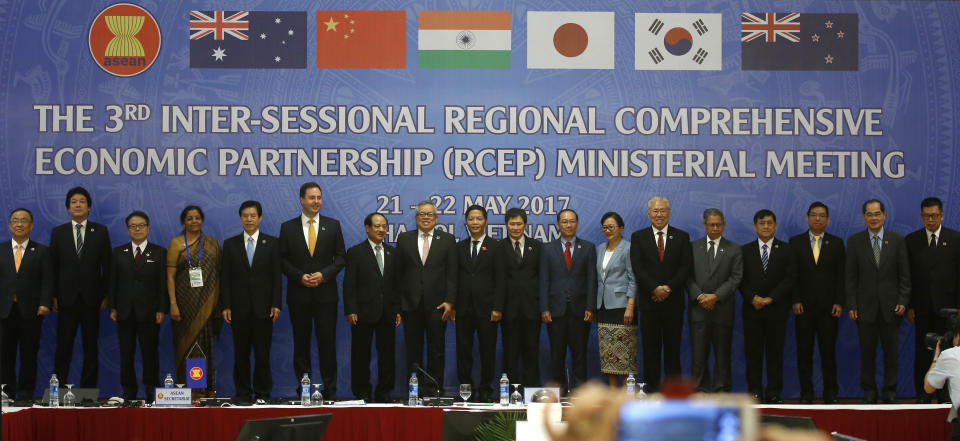
[[[634,15],[636,70],[720,70],[720,14]]]

